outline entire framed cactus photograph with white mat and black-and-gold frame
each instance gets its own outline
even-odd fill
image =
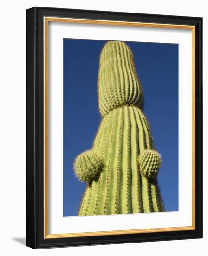
[[[27,10],[27,246],[202,238],[202,18]]]

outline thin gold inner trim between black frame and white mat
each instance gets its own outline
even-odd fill
[[[98,24],[98,25],[175,28],[175,29],[192,30],[192,226],[154,228],[154,229],[113,230],[113,231],[98,231],[98,232],[84,232],[84,233],[48,234],[48,24],[50,21]],[[136,234],[136,233],[139,234],[139,233],[154,233],[154,232],[168,232],[168,231],[182,231],[182,230],[195,230],[195,26],[129,22],[129,21],[117,21],[117,20],[91,20],[91,19],[44,17],[44,239],[81,237],[81,236],[104,236],[104,235],[107,236],[107,235]]]

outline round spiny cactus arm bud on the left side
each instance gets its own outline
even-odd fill
[[[74,172],[80,181],[91,182],[100,174],[103,167],[101,159],[92,150],[78,155],[74,162]]]

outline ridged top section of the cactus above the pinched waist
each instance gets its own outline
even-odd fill
[[[100,54],[98,101],[102,116],[123,105],[143,108],[133,54],[123,42],[108,42]]]

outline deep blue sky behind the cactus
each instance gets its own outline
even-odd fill
[[[75,157],[90,149],[101,120],[97,106],[99,54],[105,40],[63,40],[63,216],[77,216],[85,184]],[[178,45],[127,42],[144,91],[144,114],[162,155],[158,182],[166,211],[178,210]]]

